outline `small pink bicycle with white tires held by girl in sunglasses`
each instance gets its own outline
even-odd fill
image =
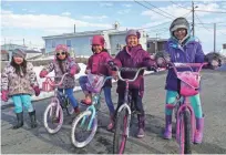
[[[74,108],[69,102],[68,96],[64,94],[64,92],[62,93],[58,91],[58,86],[63,83],[63,80],[68,74],[69,73],[64,73],[63,76],[45,76],[47,79],[42,83],[42,91],[54,91],[51,103],[47,106],[43,114],[43,124],[50,134],[55,134],[61,130],[63,125],[63,111],[66,111],[68,115],[72,115],[74,113]],[[61,78],[61,81],[56,84],[51,80],[51,78]]]

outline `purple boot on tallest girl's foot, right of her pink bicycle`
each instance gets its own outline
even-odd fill
[[[196,131],[195,131],[195,144],[201,144],[203,141],[203,130],[204,130],[204,117],[196,117]]]

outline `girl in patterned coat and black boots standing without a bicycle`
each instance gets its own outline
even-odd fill
[[[17,124],[14,130],[23,126],[23,107],[29,112],[31,127],[37,127],[35,110],[31,104],[31,95],[35,92],[35,96],[40,94],[37,75],[33,65],[25,60],[25,52],[21,49],[12,51],[12,60],[4,68],[1,75],[1,100],[7,102],[8,96],[12,97],[14,103],[14,113],[17,114]]]

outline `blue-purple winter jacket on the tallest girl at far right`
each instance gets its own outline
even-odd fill
[[[171,55],[172,62],[181,63],[203,63],[204,52],[199,42],[191,39],[184,46],[178,45],[174,40],[170,39],[165,44],[166,52]],[[191,69],[177,69],[177,71],[191,71]],[[168,70],[166,78],[166,90],[177,91],[177,78],[173,69]]]

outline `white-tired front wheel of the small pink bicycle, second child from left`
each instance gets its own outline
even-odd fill
[[[61,106],[59,106],[59,116],[55,117],[56,107],[56,103],[51,103],[47,106],[43,114],[43,124],[50,134],[58,133],[63,125],[63,110]]]

